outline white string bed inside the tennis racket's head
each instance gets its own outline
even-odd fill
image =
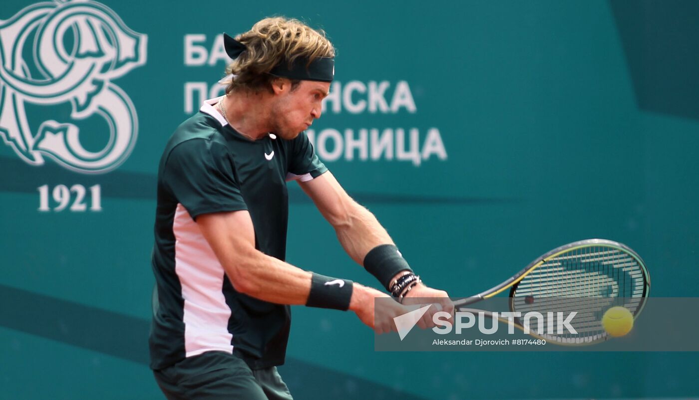
[[[512,309],[523,315],[540,313],[543,323],[538,334],[549,340],[586,343],[607,336],[601,319],[610,306],[624,305],[635,313],[645,284],[642,266],[626,251],[584,246],[542,262],[525,276],[514,289]],[[572,311],[577,312],[577,333],[561,333],[559,328]],[[532,326],[540,325],[537,321]]]

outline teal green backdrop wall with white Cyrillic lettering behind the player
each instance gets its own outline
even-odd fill
[[[431,286],[473,295],[603,237],[643,256],[651,295],[696,295],[696,2],[4,0],[0,399],[162,398],[157,161],[217,93],[217,35],[268,15],[338,48],[316,148]],[[289,186],[288,260],[376,286]],[[293,313],[298,399],[699,396],[694,353],[377,353],[349,313]]]

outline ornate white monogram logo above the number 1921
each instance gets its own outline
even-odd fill
[[[146,45],[146,35],[95,1],[36,3],[0,21],[0,136],[31,165],[48,156],[76,172],[117,168],[136,144],[138,117],[112,81],[145,64]],[[66,120],[29,123],[25,105],[66,103]],[[94,118],[109,131],[99,151],[85,149],[91,133],[75,124]]]

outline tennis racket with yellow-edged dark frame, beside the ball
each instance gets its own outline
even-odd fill
[[[624,306],[636,318],[648,297],[650,277],[640,256],[624,244],[605,239],[587,239],[565,244],[532,261],[526,268],[498,286],[454,302],[457,311],[482,312],[493,318],[490,311],[468,306],[510,289],[510,311],[524,315],[537,311],[547,316],[549,311],[577,311],[577,334],[547,334],[556,332],[558,321],[543,318],[543,329],[529,322],[529,334],[547,343],[584,346],[609,339],[602,327],[602,316],[612,306]],[[507,323],[507,318],[498,317]],[[520,318],[514,326],[524,330]],[[549,326],[554,329],[549,330]]]

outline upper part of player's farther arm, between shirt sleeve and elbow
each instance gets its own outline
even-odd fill
[[[347,220],[351,209],[356,207],[354,200],[349,197],[330,171],[307,182],[299,181],[298,185],[333,226]]]

